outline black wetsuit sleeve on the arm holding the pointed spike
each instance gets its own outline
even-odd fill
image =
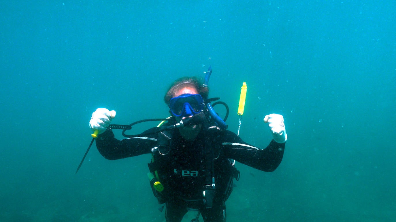
[[[109,160],[134,157],[151,153],[150,149],[157,144],[156,134],[118,140],[110,128],[95,139],[99,153]]]

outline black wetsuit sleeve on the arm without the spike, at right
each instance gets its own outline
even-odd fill
[[[279,144],[274,140],[267,148],[259,149],[242,141],[231,131],[225,131],[221,140],[221,152],[225,157],[266,172],[272,172],[279,166],[285,149],[285,143]]]

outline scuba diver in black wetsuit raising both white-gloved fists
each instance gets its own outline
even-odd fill
[[[265,149],[252,146],[228,131],[213,112],[207,82],[196,77],[176,80],[164,97],[171,114],[168,123],[130,138],[114,138],[110,125],[114,110],[98,108],[89,121],[89,127],[99,132],[96,146],[106,159],[152,154],[150,185],[165,207],[167,222],[180,222],[191,210],[198,211],[191,221],[198,221],[201,214],[204,222],[225,222],[225,202],[233,179],[239,179],[234,160],[265,172],[274,171],[282,161],[287,140],[283,116],[265,116],[274,139]]]

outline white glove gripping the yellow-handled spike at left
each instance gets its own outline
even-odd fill
[[[97,108],[95,112],[92,113],[89,127],[91,127],[93,131],[99,130],[98,134],[101,134],[106,131],[114,117],[116,117],[116,111],[109,111],[106,108]]]

